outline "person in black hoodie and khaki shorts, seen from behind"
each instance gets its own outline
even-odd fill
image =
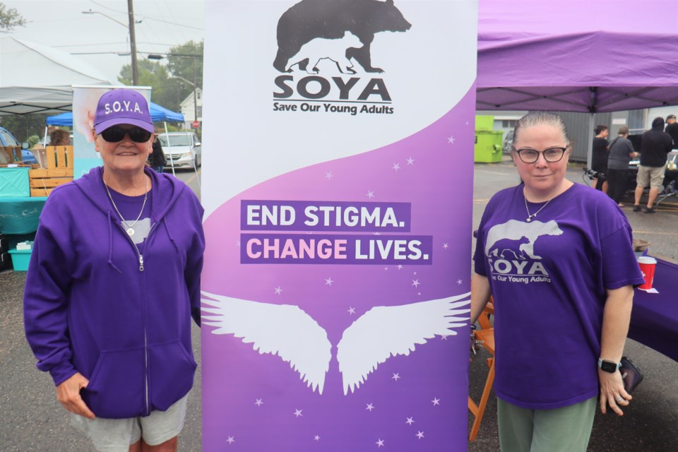
[[[636,177],[634,212],[641,211],[641,197],[646,186],[650,186],[648,205],[645,213],[655,213],[654,203],[664,184],[667,155],[673,148],[671,136],[664,131],[664,119],[655,118],[652,129],[643,133],[641,141],[641,164]]]

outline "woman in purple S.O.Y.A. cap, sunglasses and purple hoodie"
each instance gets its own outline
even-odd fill
[[[26,336],[97,450],[175,451],[196,369],[203,208],[146,167],[154,136],[141,94],[102,95],[93,135],[103,167],[54,189],[40,217]]]

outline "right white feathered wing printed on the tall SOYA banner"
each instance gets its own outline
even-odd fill
[[[424,344],[434,335],[455,335],[449,328],[468,325],[470,292],[402,306],[373,307],[344,331],[337,346],[344,394],[354,392],[391,356],[410,355],[415,344]],[[458,301],[463,299],[462,301]]]

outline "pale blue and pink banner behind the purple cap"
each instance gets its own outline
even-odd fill
[[[99,98],[114,88],[131,88],[150,102],[150,88],[138,86],[73,86],[73,178],[103,165],[94,148],[94,114]]]

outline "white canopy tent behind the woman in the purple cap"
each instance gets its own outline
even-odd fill
[[[0,37],[0,114],[71,110],[71,85],[112,85],[71,54],[15,37]]]

